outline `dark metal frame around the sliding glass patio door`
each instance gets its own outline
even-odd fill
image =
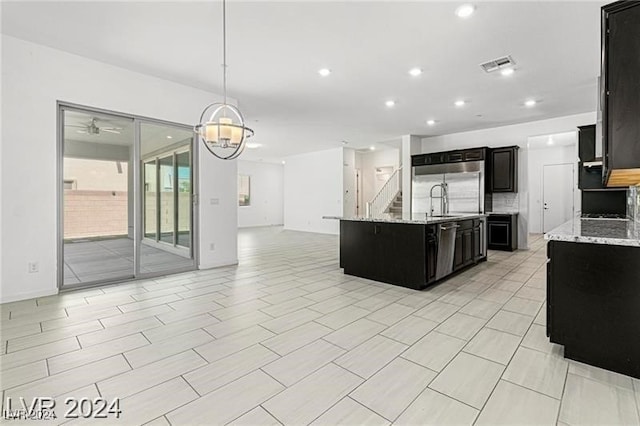
[[[133,276],[115,279],[106,279],[92,281],[90,283],[64,284],[64,112],[77,111],[85,113],[108,114],[115,117],[133,120],[134,141],[133,141]],[[78,288],[95,287],[104,284],[115,284],[118,282],[148,279],[159,277],[167,274],[175,274],[180,272],[188,272],[198,269],[200,264],[200,238],[199,224],[200,215],[198,209],[198,194],[200,193],[200,182],[198,173],[195,168],[200,164],[200,144],[199,139],[194,135],[191,143],[191,253],[193,257],[193,266],[186,268],[176,268],[169,271],[161,272],[140,272],[140,245],[142,244],[142,182],[141,158],[140,158],[140,125],[141,123],[159,124],[165,126],[181,127],[192,130],[193,127],[188,124],[176,123],[167,120],[160,120],[152,117],[145,117],[137,114],[128,114],[119,111],[112,111],[104,108],[97,108],[87,105],[76,104],[73,102],[56,101],[56,248],[57,248],[57,288],[59,291],[75,290]]]

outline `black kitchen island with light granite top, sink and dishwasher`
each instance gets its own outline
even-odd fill
[[[486,260],[486,216],[340,218],[344,273],[421,290]]]

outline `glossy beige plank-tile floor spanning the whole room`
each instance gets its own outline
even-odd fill
[[[344,275],[336,236],[242,230],[237,267],[1,305],[2,400],[117,397],[127,425],[639,424],[640,380],[547,340],[544,249],[416,292]]]

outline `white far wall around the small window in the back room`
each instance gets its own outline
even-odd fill
[[[281,164],[238,161],[238,174],[250,176],[251,205],[238,207],[238,227],[284,223],[284,168]]]

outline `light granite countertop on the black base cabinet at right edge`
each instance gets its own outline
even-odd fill
[[[640,226],[628,219],[574,218],[544,234],[545,240],[640,247]]]

